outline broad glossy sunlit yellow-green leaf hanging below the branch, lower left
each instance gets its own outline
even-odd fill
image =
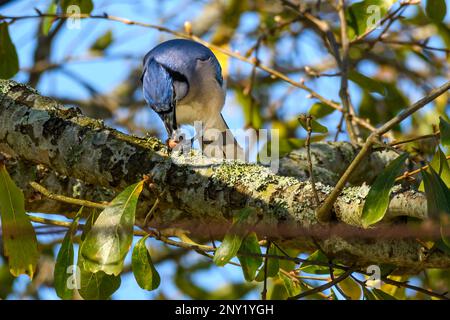
[[[87,271],[118,275],[133,241],[136,204],[143,181],[122,191],[98,216],[81,245]]]

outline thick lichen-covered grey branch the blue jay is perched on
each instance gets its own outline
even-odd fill
[[[55,193],[102,201],[146,175],[152,183],[143,192],[137,216],[142,221],[158,198],[151,222],[154,226],[184,223],[192,227],[195,223],[197,226],[190,229],[192,236],[205,238],[215,226],[226,231],[223,226],[234,215],[242,208],[250,208],[260,234],[300,250],[314,250],[318,244],[327,255],[346,264],[360,267],[390,264],[402,273],[450,267],[449,255],[439,250],[428,251],[414,236],[374,236],[373,231],[382,230],[382,226],[362,230],[361,208],[369,190],[366,185],[347,187],[333,207],[336,221],[326,226],[319,224],[311,184],[294,172],[293,163],[304,161],[298,156],[303,151],[280,162],[282,174],[297,177],[277,175],[256,164],[205,158],[198,152],[169,156],[156,138],[138,138],[108,128],[28,86],[0,80],[0,94],[0,152],[12,157],[8,170],[25,190],[29,211],[64,213],[75,208],[42,198],[36,200],[28,181],[38,181]],[[347,151],[344,156],[343,148]],[[323,201],[332,190],[323,182],[336,181],[356,148],[341,143],[313,144],[312,149],[319,181],[316,189]],[[337,164],[331,159],[339,154],[342,157]],[[371,181],[374,173],[393,157],[389,153],[373,154],[365,164],[371,168],[365,171],[371,170],[371,174],[364,179],[360,178],[362,174],[356,175],[353,183]],[[334,175],[322,175],[320,170]],[[398,226],[400,217],[427,219],[424,194],[395,187],[380,225]],[[347,233],[351,231],[350,236],[335,233],[342,226]],[[325,237],[316,237],[316,233],[308,233],[310,230],[319,230]]]

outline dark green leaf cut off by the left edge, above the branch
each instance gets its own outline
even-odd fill
[[[8,24],[0,23],[0,79],[12,78],[19,71],[19,58],[11,41]]]

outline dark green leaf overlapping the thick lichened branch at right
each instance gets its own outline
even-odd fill
[[[389,206],[389,196],[395,184],[395,178],[400,174],[403,163],[407,158],[407,153],[402,154],[393,160],[375,179],[364,202],[361,220],[364,227],[383,219]]]

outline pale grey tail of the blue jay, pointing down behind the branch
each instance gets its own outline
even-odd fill
[[[246,161],[245,152],[236,141],[222,115],[206,128],[202,151],[208,157]]]

